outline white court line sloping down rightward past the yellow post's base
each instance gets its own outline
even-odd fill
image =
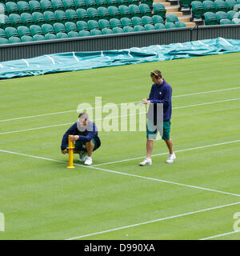
[[[236,142],[236,141],[234,141],[234,142]],[[234,143],[234,142],[231,142],[231,143]],[[240,142],[240,140],[238,142]],[[218,145],[223,145],[223,144],[226,144],[226,143],[230,143],[230,142],[223,142],[222,144],[219,143]],[[210,146],[210,145],[208,145],[208,146]],[[214,146],[216,146],[216,144],[214,144]],[[192,149],[192,150],[194,150],[194,149]],[[54,159],[50,159],[50,158],[42,158],[42,157],[34,156],[34,155],[31,155],[31,154],[21,154],[21,153],[14,152],[14,151],[9,151],[9,150],[0,150],[0,152],[9,153],[9,154],[18,154],[18,155],[22,155],[22,156],[26,156],[26,157],[30,157],[30,158],[38,158],[38,159],[42,159],[42,160],[47,160],[47,161],[52,161],[52,162],[61,162],[61,163],[66,164],[66,162],[63,162],[63,161],[54,160]],[[130,176],[130,177],[134,177],[134,178],[143,178],[143,179],[151,180],[151,181],[154,181],[154,182],[168,183],[168,184],[177,185],[177,186],[186,186],[186,187],[194,188],[194,189],[197,189],[197,190],[206,190],[206,191],[210,191],[210,192],[216,192],[216,193],[220,193],[220,194],[228,194],[228,195],[233,195],[233,196],[240,197],[240,194],[234,194],[234,193],[230,193],[230,192],[226,192],[226,191],[222,191],[222,190],[213,190],[213,189],[209,189],[209,188],[202,187],[202,186],[192,186],[192,185],[179,183],[179,182],[170,182],[170,181],[162,180],[162,179],[159,179],[159,178],[150,178],[150,177],[136,175],[136,174],[123,173],[123,172],[120,172],[120,171],[117,171],[117,170],[102,169],[102,168],[98,168],[96,166],[84,166],[84,165],[77,164],[77,163],[74,163],[74,166],[81,166],[81,167],[94,169],[94,170],[102,170],[102,171],[112,173],[112,174],[121,174],[121,175]],[[142,167],[139,167],[139,168],[142,168]]]

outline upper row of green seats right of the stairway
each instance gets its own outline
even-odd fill
[[[191,3],[191,7],[193,18],[201,18],[202,14],[206,12],[217,13],[218,11],[240,10],[240,4],[235,0],[226,0],[226,2],[222,0],[216,0],[215,2],[210,0],[194,1]]]

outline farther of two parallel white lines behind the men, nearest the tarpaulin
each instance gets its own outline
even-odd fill
[[[226,88],[226,89],[220,89],[220,90],[207,90],[207,91],[202,91],[202,92],[193,93],[193,94],[176,95],[176,96],[173,96],[172,98],[186,97],[186,96],[192,96],[192,95],[198,95],[198,94],[209,94],[209,93],[215,93],[215,92],[220,92],[220,91],[225,91],[225,90],[237,90],[237,89],[240,89],[240,86],[239,86],[239,87]],[[121,105],[121,104],[128,104],[128,103],[131,103],[131,102],[127,102],[127,103],[118,103],[118,104],[116,104],[116,105],[119,106],[119,105]],[[132,103],[136,103],[136,102],[132,102]],[[93,108],[90,108],[90,109],[95,109],[95,108],[96,108],[96,107],[93,107]],[[77,110],[66,110],[66,111],[53,112],[53,113],[46,113],[46,114],[35,114],[35,115],[26,116],[26,117],[22,117],[22,118],[8,118],[8,119],[0,120],[0,122],[7,122],[7,121],[13,121],[13,120],[20,120],[20,119],[26,119],[26,118],[38,118],[38,117],[47,116],[47,115],[65,114],[65,113],[70,113],[70,112],[77,112]]]

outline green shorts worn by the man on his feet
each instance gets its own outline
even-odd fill
[[[171,127],[170,120],[163,121],[163,125],[162,125],[162,122],[158,122],[156,126],[154,126],[154,122],[147,120],[147,122],[146,122],[146,138],[156,139],[157,134],[159,132],[162,139],[164,139],[164,140],[170,139],[170,127]]]

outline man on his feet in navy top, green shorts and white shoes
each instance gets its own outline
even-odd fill
[[[163,134],[162,139],[166,142],[166,146],[169,150],[169,156],[166,160],[168,163],[174,162],[176,155],[173,151],[173,142],[170,138],[170,118],[172,114],[172,88],[171,86],[162,78],[162,73],[159,70],[154,70],[150,72],[150,77],[154,82],[150,96],[148,99],[143,99],[142,102],[145,104],[163,104]],[[156,139],[158,134],[158,129],[150,130],[148,125],[150,120],[147,121],[146,126],[146,159],[140,162],[140,166],[150,166],[152,164],[151,154],[154,147],[154,139]],[[158,127],[158,126],[157,126]]]

